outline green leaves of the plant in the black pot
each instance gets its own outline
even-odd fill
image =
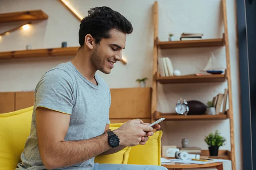
[[[215,134],[210,133],[205,137],[204,141],[208,144],[208,146],[223,146],[226,139],[220,134],[221,133],[218,130],[215,130]]]

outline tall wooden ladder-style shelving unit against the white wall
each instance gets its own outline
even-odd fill
[[[185,121],[185,120],[229,120],[230,122],[230,145],[231,150],[221,151],[218,157],[220,159],[230,159],[232,161],[232,170],[236,170],[236,156],[235,156],[235,139],[234,139],[234,122],[233,122],[233,100],[232,100],[232,87],[231,87],[231,74],[230,74],[230,51],[229,51],[229,39],[228,39],[228,28],[227,28],[227,7],[226,0],[221,0],[222,12],[223,12],[223,23],[224,33],[222,38],[216,39],[201,39],[201,40],[180,40],[180,41],[168,41],[161,42],[158,37],[158,2],[154,3],[154,46],[153,46],[153,83],[152,83],[152,96],[151,96],[151,122],[164,117],[166,120],[172,121]],[[227,69],[225,74],[218,75],[187,75],[187,76],[174,76],[174,77],[161,77],[158,72],[158,50],[162,49],[173,49],[173,48],[204,48],[204,47],[224,47],[226,51],[226,63]],[[157,84],[172,84],[172,83],[210,83],[210,82],[225,82],[227,81],[228,89],[228,100],[229,109],[227,114],[219,115],[176,115],[172,113],[160,113],[157,111]],[[175,105],[175,104],[174,104]],[[175,135],[175,134],[174,134]],[[205,150],[202,155],[209,155],[209,151]],[[198,165],[195,165],[195,167]],[[173,164],[172,168],[181,168],[180,166],[175,167]],[[198,166],[204,167],[204,166]],[[186,168],[184,165],[183,168]]]

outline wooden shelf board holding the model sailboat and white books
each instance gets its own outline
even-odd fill
[[[172,77],[157,77],[157,81],[161,84],[172,83],[199,83],[199,82],[224,82],[226,74],[213,74],[203,76],[172,76]]]

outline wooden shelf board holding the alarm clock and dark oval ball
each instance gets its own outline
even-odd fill
[[[176,113],[155,112],[155,119],[164,117],[165,120],[223,120],[228,119],[226,114],[219,115],[177,115]]]

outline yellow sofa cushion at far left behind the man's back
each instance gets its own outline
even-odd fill
[[[30,133],[33,107],[0,114],[0,170],[14,170]]]

